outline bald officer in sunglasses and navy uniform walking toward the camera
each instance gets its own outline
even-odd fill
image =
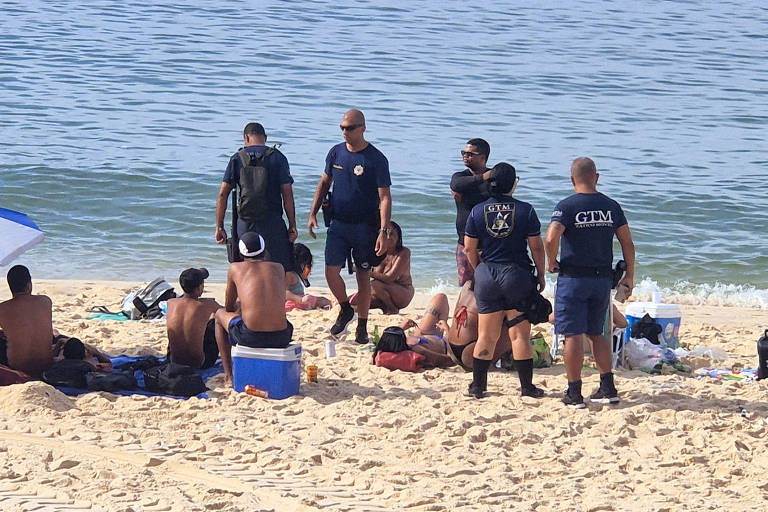
[[[315,238],[317,211],[333,184],[333,220],[325,241],[325,279],[341,310],[331,327],[331,335],[342,334],[354,318],[341,267],[352,253],[357,279],[357,329],[355,341],[368,343],[368,309],[371,303],[370,271],[379,264],[394,237],[390,226],[392,197],[389,187],[389,162],[373,144],[365,140],[365,116],[349,110],[341,119],[344,142],[328,152],[325,172],[317,184],[307,229]]]

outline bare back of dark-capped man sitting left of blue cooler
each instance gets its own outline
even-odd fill
[[[171,361],[195,368],[204,363],[203,343],[206,327],[220,307],[214,299],[186,295],[168,301],[166,326]]]

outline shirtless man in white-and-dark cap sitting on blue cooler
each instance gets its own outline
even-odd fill
[[[293,335],[293,325],[285,316],[282,265],[266,261],[264,239],[258,233],[244,233],[239,249],[243,261],[229,266],[224,309],[216,312],[216,343],[227,386],[232,385],[233,345],[285,348]]]

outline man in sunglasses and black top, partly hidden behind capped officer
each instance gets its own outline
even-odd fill
[[[491,146],[483,139],[468,140],[461,151],[461,159],[466,169],[451,177],[451,194],[456,201],[456,233],[459,235],[456,244],[459,286],[464,286],[464,283],[470,281],[475,273],[464,252],[464,228],[472,208],[491,197],[488,190],[491,171],[486,167],[490,154]]]

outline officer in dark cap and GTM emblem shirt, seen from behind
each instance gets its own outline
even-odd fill
[[[475,398],[485,395],[488,368],[505,319],[517,320],[535,296],[537,286],[542,291],[545,285],[541,223],[533,206],[512,197],[517,185],[515,168],[503,162],[496,164],[490,181],[492,197],[472,208],[464,230],[464,249],[475,268],[479,313],[469,385],[469,394]],[[533,385],[530,337],[531,323],[527,319],[509,327],[521,394],[541,398],[544,391]]]

